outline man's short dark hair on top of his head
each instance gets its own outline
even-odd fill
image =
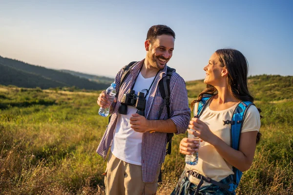
[[[175,33],[170,27],[158,24],[148,29],[146,40],[150,40],[150,42],[152,42],[154,39],[157,38],[157,36],[160,35],[170,35],[175,39]]]

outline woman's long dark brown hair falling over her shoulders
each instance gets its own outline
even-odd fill
[[[254,101],[248,90],[248,62],[241,52],[235,49],[219,49],[215,52],[221,65],[226,67],[228,70],[228,89],[234,98],[240,99],[241,101]],[[191,102],[191,109],[193,109],[196,102],[201,101],[203,95],[215,95],[217,94],[217,89],[207,84],[206,89],[204,89],[198,96],[196,100]],[[258,112],[261,110],[259,108]],[[262,117],[262,116],[260,116]],[[256,143],[259,142],[261,138],[261,133],[257,133]]]

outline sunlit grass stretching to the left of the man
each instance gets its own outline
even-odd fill
[[[9,89],[1,97],[0,194],[101,191],[105,163],[94,151],[106,119],[97,116],[96,94]],[[53,104],[14,104],[38,97]]]

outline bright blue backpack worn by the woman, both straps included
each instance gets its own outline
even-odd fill
[[[212,95],[204,95],[202,97],[202,100],[198,102],[198,108],[197,108],[197,115],[195,117],[200,117],[202,112],[204,111],[205,107],[209,104],[209,101],[211,100]],[[247,109],[254,105],[250,101],[241,101],[238,103],[237,107],[235,108],[232,120],[223,120],[224,124],[230,124],[230,139],[231,139],[231,147],[235,150],[239,149],[239,140],[241,136],[241,129],[243,125],[243,120],[246,115]],[[241,179],[242,172],[239,171],[236,167],[232,167],[234,175],[232,175],[233,183],[230,183],[230,189],[228,189],[230,192],[234,191]]]

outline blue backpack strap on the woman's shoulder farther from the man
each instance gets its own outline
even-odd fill
[[[239,150],[239,140],[241,136],[241,129],[243,126],[244,118],[248,108],[254,105],[250,101],[241,101],[238,103],[237,107],[235,108],[233,115],[232,115],[232,122],[230,126],[230,142],[231,147],[235,150]],[[237,168],[233,167],[233,181],[236,183],[236,187],[238,186],[242,172],[239,171]],[[236,188],[235,187],[235,188]]]

